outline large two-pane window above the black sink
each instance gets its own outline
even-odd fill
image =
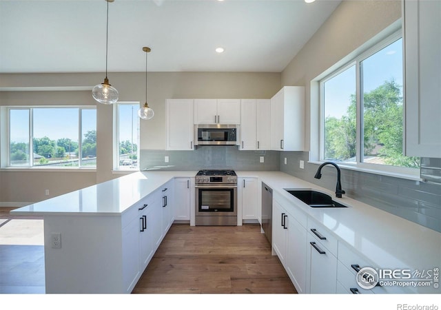
[[[402,61],[395,34],[320,81],[322,161],[407,174],[420,167],[402,155]]]

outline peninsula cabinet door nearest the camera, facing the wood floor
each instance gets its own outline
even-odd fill
[[[140,274],[139,229],[138,216],[123,227],[123,285],[127,293],[132,291]]]

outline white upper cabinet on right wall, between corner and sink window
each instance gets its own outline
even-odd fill
[[[305,87],[285,86],[271,98],[271,149],[305,150]]]

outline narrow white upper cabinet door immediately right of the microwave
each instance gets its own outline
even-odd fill
[[[256,149],[256,100],[240,101],[240,145],[239,149]]]

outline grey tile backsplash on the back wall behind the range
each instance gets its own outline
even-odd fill
[[[165,163],[165,156],[169,162]],[[263,156],[263,163],[260,157]],[[234,145],[204,145],[194,151],[141,149],[141,170],[191,171],[201,169],[235,169],[242,171],[278,171],[276,151],[239,151]]]

